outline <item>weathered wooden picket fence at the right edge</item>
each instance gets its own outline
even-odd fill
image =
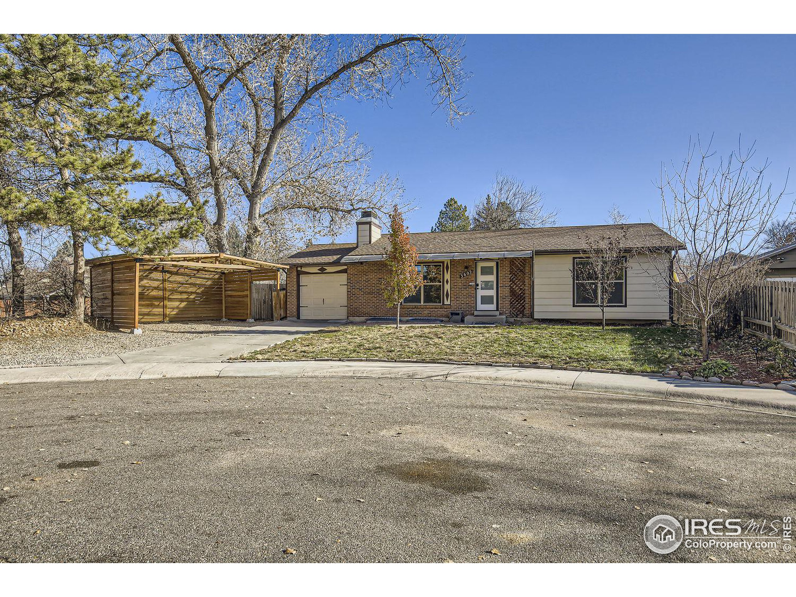
[[[767,280],[740,301],[741,333],[782,342],[796,349],[796,281]]]

